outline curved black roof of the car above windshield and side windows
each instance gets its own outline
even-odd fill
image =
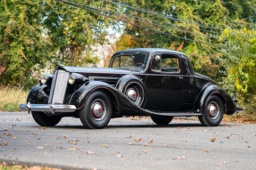
[[[169,49],[164,49],[164,48],[133,48],[133,49],[128,49],[128,50],[122,50],[120,52],[114,53],[114,55],[120,54],[120,53],[136,53],[136,52],[140,52],[140,53],[177,53],[177,54],[182,54],[185,55],[185,53],[180,53],[177,51],[173,51],[173,50],[169,50]]]

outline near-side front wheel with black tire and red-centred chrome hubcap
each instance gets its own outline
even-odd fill
[[[111,112],[112,104],[108,94],[95,91],[88,96],[84,107],[79,110],[79,117],[86,128],[101,129],[108,125]]]

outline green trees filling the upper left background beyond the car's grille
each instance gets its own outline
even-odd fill
[[[55,0],[3,0],[0,18],[1,85],[24,88],[35,85],[32,73],[40,72],[46,63],[49,69],[56,68],[55,61],[71,66],[97,63],[91,46],[104,43],[104,28],[110,21]]]

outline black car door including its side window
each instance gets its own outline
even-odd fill
[[[145,79],[146,109],[177,110],[182,103],[182,77],[178,55],[155,54]]]

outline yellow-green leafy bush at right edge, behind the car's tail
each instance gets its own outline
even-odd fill
[[[237,91],[244,101],[252,102],[256,93],[256,31],[226,28],[221,39],[227,39],[223,49],[224,86]]]

